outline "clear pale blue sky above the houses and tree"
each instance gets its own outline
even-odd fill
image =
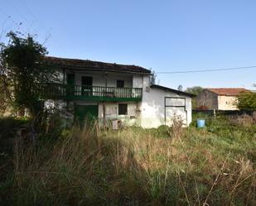
[[[255,0],[1,0],[0,41],[18,30],[36,34],[49,55],[156,73],[254,66],[255,11]],[[173,89],[253,89],[256,68],[157,79]]]

